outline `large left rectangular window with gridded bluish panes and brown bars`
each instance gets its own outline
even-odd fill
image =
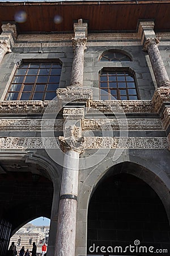
[[[56,97],[62,65],[59,61],[20,63],[5,100],[52,100]]]

